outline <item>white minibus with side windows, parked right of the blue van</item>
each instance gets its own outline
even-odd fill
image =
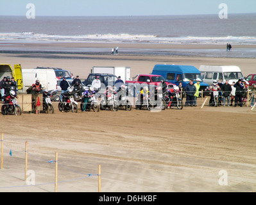
[[[212,85],[213,81],[222,80],[232,85],[232,82],[237,82],[239,78],[244,78],[240,68],[236,65],[200,65],[199,68],[203,82]]]

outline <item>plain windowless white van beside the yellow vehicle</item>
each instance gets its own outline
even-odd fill
[[[23,92],[38,79],[43,89],[56,90],[57,78],[53,69],[22,69]]]

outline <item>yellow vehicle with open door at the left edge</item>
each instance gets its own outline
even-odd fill
[[[18,85],[18,90],[22,90],[23,81],[22,81],[22,72],[21,64],[15,64],[14,67],[10,64],[0,63],[0,81],[4,78],[10,76],[14,78]]]

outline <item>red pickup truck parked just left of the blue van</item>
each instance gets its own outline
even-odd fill
[[[135,91],[140,91],[144,85],[158,86],[161,80],[166,82],[167,88],[173,88],[176,86],[173,83],[169,83],[163,76],[152,75],[152,74],[139,74],[132,78],[132,81],[125,81],[125,85],[128,86],[128,90],[131,94],[135,94]]]

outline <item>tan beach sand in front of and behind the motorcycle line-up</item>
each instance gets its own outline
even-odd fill
[[[53,44],[6,45],[40,49]],[[112,44],[61,44],[55,47],[112,48]],[[132,76],[149,74],[157,63],[237,65],[244,76],[255,72],[255,58],[157,56],[122,53],[132,49],[162,49],[167,45],[118,45],[110,53],[0,53],[1,63],[23,69],[60,67],[87,78],[93,66],[127,66]],[[201,49],[205,45],[168,45]],[[220,45],[212,45],[220,47]],[[252,46],[253,47],[253,46]],[[224,48],[225,49],[225,48]],[[111,49],[110,49],[111,51]],[[185,101],[185,100],[184,100]],[[55,152],[58,152],[58,192],[255,192],[256,111],[250,107],[197,107],[183,110],[99,111],[53,115],[0,116],[4,163],[0,192],[54,192]],[[36,186],[24,181],[24,147],[28,170]],[[10,156],[12,150],[12,156]],[[224,173],[224,175],[223,175]],[[225,175],[226,174],[226,175]],[[225,178],[225,176],[227,176]],[[225,181],[226,179],[226,181]],[[227,183],[227,184],[226,184]]]

